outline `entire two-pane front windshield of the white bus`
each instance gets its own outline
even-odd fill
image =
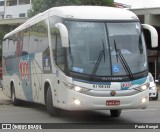
[[[128,76],[147,70],[139,22],[66,21],[68,69],[89,76]]]

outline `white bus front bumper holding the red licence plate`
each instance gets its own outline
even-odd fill
[[[108,103],[109,102],[109,103]],[[147,108],[149,90],[131,96],[95,97],[69,90],[67,95],[68,110],[111,110]]]

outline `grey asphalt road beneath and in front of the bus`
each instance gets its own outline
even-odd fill
[[[66,129],[63,129],[66,131],[69,131],[67,130],[69,128],[71,128],[72,131],[74,128],[77,128],[76,124],[73,123],[80,123],[80,125],[84,123],[82,128],[87,128],[87,132],[90,130],[99,131],[97,128],[106,131],[103,129],[106,125],[114,125],[112,128],[115,127],[116,129],[117,124],[122,124],[124,127],[124,125],[128,123],[135,125],[138,123],[159,123],[158,128],[160,130],[160,98],[158,101],[150,101],[147,109],[123,110],[119,118],[110,117],[109,111],[63,111],[60,116],[50,117],[45,106],[33,103],[13,106],[10,99],[5,97],[0,91],[0,123],[59,123],[54,124],[54,126],[60,129],[62,129],[66,123],[70,123]],[[130,126],[126,125],[126,128],[127,127]],[[76,129],[76,131],[80,130]],[[115,131],[119,132],[118,129]]]

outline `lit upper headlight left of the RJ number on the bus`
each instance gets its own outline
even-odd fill
[[[69,84],[69,83],[67,83],[67,82],[65,82],[65,81],[63,81],[63,83],[64,83],[64,85],[65,85],[67,88],[69,88],[69,89],[71,89],[71,90],[74,90],[74,91],[76,91],[76,92],[83,93],[83,92],[86,92],[86,91],[89,91],[89,90],[90,90],[90,89],[88,89],[88,88],[83,88],[83,87],[80,87],[80,86],[75,86],[75,85],[73,85],[73,84]]]

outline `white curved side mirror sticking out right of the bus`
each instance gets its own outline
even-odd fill
[[[144,36],[146,42],[150,44],[152,48],[158,47],[158,33],[157,30],[148,24],[142,24]]]

